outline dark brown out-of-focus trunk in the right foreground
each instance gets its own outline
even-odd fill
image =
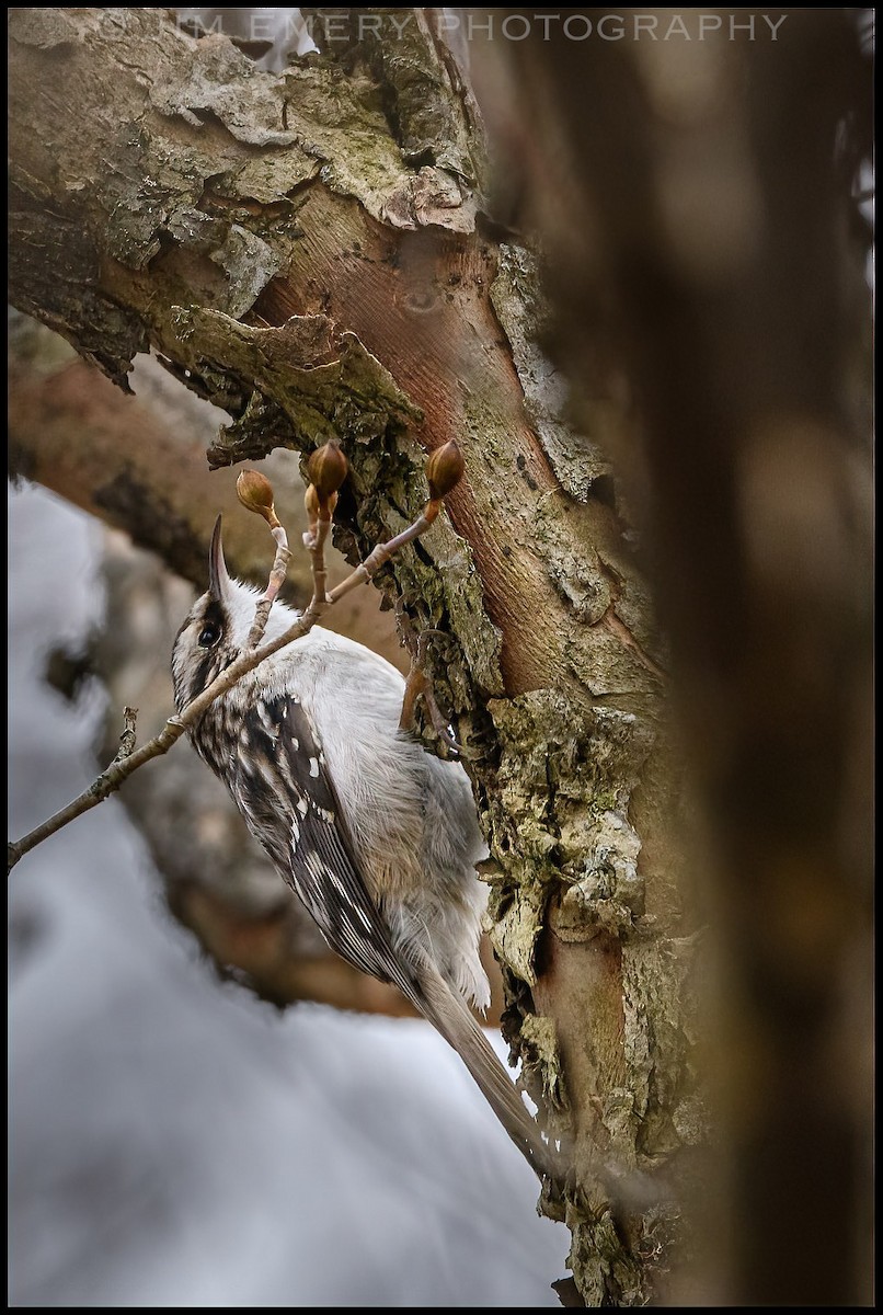
[[[531,37],[485,76],[549,250],[553,356],[586,425],[599,392],[633,400],[611,456],[703,807],[728,1160],[717,1273],[682,1293],[865,1304],[870,58],[859,11],[661,9],[643,37],[633,13],[611,43],[600,11],[593,41],[511,11]]]

